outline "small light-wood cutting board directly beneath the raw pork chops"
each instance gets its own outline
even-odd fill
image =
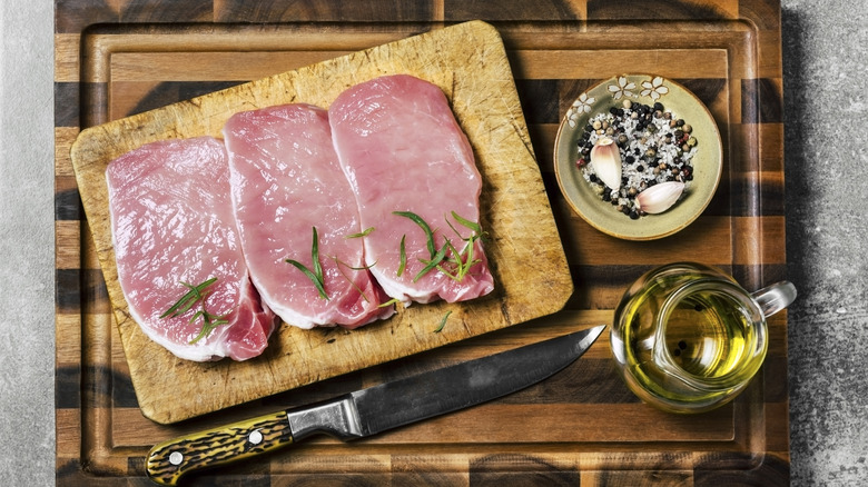
[[[400,309],[357,330],[282,326],[265,354],[191,362],[150,341],[129,317],[112,250],[107,165],[168,138],[220,137],[238,111],[290,102],[327,108],[346,88],[408,73],[440,86],[466,132],[483,177],[481,223],[495,277],[487,297]],[[71,148],[88,223],[142,414],[170,424],[371,367],[560,310],[573,287],[497,31],[471,21],[341,56],[189,101],[88,128]],[[434,332],[452,311],[441,332]]]

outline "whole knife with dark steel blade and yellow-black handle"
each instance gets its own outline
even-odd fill
[[[273,451],[315,433],[342,440],[364,438],[485,402],[569,366],[591,347],[603,328],[600,325],[315,405],[164,441],[148,454],[148,477],[172,486],[190,471]]]

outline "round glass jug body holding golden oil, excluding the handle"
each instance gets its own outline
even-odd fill
[[[627,385],[675,413],[732,399],[766,355],[766,321],[752,296],[701,265],[669,265],[640,278],[615,310],[612,352]]]

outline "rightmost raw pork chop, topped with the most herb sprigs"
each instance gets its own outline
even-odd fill
[[[356,193],[362,227],[375,228],[365,237],[365,258],[383,289],[404,304],[437,298],[454,302],[490,292],[494,284],[482,242],[472,239],[472,256],[467,256],[462,238],[475,232],[452,217],[454,211],[479,222],[482,180],[443,91],[411,76],[377,78],[341,93],[329,107],[329,120],[341,165]],[[427,223],[433,246],[408,213]],[[455,272],[444,260],[441,269],[420,275],[424,261],[433,260],[446,238],[463,261],[479,262]],[[450,258],[458,256],[447,249]]]

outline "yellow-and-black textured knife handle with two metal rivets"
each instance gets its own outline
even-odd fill
[[[174,486],[185,474],[275,450],[294,441],[286,413],[275,413],[156,445],[148,453],[148,477]]]

